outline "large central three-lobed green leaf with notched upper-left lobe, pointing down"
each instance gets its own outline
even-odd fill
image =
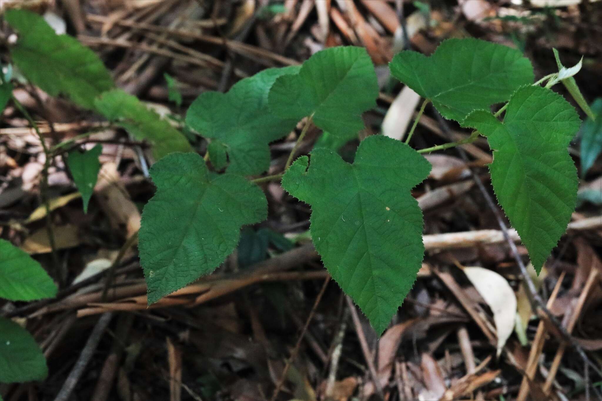
[[[429,171],[408,145],[373,135],[353,164],[318,148],[282,177],[284,189],[311,205],[311,237],[324,266],[379,334],[421,266],[423,218],[410,191]]]

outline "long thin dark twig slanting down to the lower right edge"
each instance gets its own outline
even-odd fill
[[[442,127],[444,127],[444,130],[448,129],[447,123],[445,123],[445,121],[443,120],[443,117],[441,117],[440,114],[437,114],[437,118],[439,119],[439,122],[441,123]],[[462,159],[465,162],[468,162],[468,158],[467,158],[464,150],[462,150],[461,148],[456,148],[456,150],[458,150],[458,153],[460,154]],[[531,280],[531,276],[529,275],[529,272],[527,272],[527,268],[523,263],[523,259],[521,259],[520,254],[518,254],[517,246],[515,245],[514,241],[508,235],[508,229],[506,227],[506,223],[504,223],[502,216],[500,216],[500,212],[497,209],[497,207],[495,206],[493,199],[491,198],[491,196],[485,189],[485,186],[483,185],[483,183],[481,182],[479,177],[476,174],[474,174],[474,172],[472,171],[470,166],[467,165],[467,168],[470,170],[471,176],[473,177],[476,185],[479,187],[479,190],[482,192],[483,197],[485,197],[485,201],[487,202],[489,209],[491,209],[491,211],[494,213],[495,219],[497,220],[498,225],[501,228],[504,239],[510,246],[510,250],[512,251],[514,259],[517,262],[518,268],[520,269],[521,276],[523,277],[523,285],[525,286],[527,298],[529,298],[531,307],[533,308],[533,310],[539,310],[539,311],[543,312],[545,314],[545,316],[547,316],[548,319],[550,319],[550,321],[553,323],[553,325],[556,327],[556,329],[560,332],[560,334],[562,335],[562,339],[565,340],[566,342],[568,342],[569,344],[571,344],[571,346],[573,346],[573,348],[575,350],[577,350],[577,353],[583,359],[583,361],[585,361],[585,363],[589,364],[589,366],[592,367],[594,372],[596,372],[598,374],[598,376],[600,376],[602,378],[602,371],[600,371],[600,368],[598,368],[594,363],[592,363],[592,361],[588,358],[588,355],[585,354],[585,351],[583,350],[583,348],[577,343],[577,341],[575,341],[573,339],[571,334],[569,334],[569,332],[566,331],[564,326],[562,326],[562,324],[558,321],[558,319],[556,319],[556,316],[554,316],[550,312],[550,310],[545,307],[544,302],[541,300],[537,290],[535,289],[535,284],[533,284],[533,280]],[[597,392],[597,390],[595,388],[594,388],[594,391]]]

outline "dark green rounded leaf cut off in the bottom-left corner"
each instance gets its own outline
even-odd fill
[[[36,340],[17,323],[0,317],[0,382],[30,382],[46,376],[46,358]]]

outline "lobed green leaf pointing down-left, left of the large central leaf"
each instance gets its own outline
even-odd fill
[[[267,216],[258,186],[210,173],[196,153],[173,153],[151,168],[157,193],[144,206],[140,261],[148,302],[213,272],[238,244],[240,228]]]

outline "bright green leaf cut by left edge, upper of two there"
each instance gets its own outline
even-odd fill
[[[40,263],[7,240],[0,239],[0,298],[34,301],[55,295],[57,286]]]

